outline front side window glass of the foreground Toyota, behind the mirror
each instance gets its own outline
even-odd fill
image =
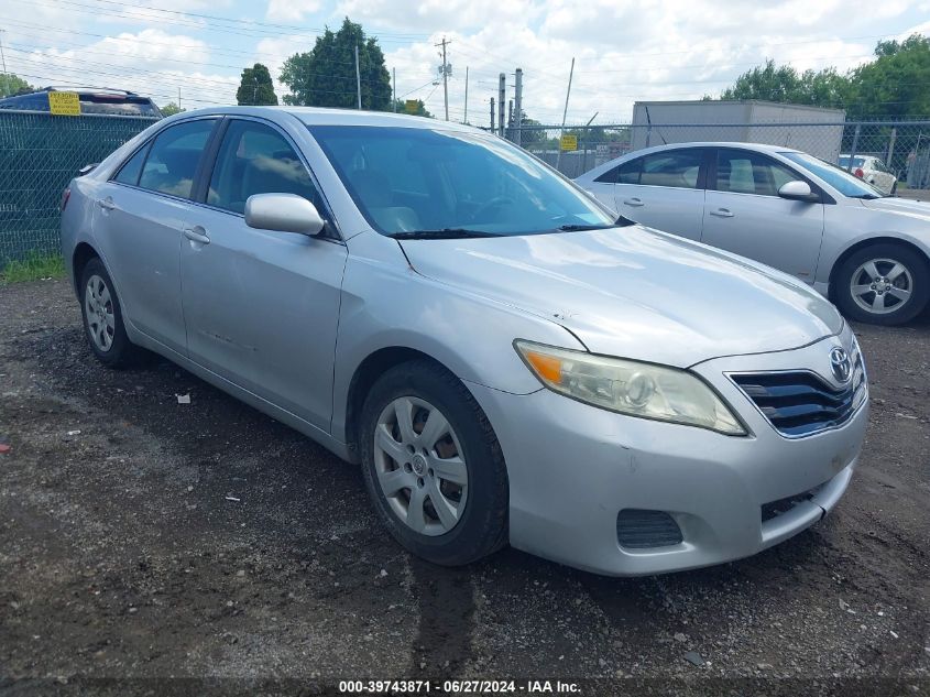
[[[263,123],[234,120],[223,135],[207,203],[243,213],[253,194],[297,194],[319,207],[310,175],[287,139]]]

